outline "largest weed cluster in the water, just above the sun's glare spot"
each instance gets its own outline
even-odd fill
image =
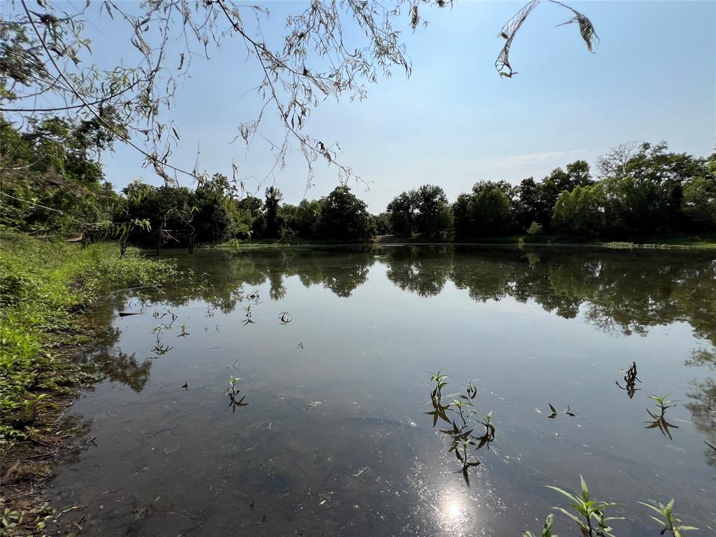
[[[432,403],[432,412],[425,412],[432,416],[432,426],[437,425],[437,419],[448,422],[452,427],[450,429],[440,429],[440,432],[450,437],[450,448],[448,453],[455,453],[455,458],[460,461],[463,467],[458,473],[463,474],[465,484],[470,486],[470,478],[468,470],[474,466],[480,465],[480,460],[473,455],[473,451],[479,450],[484,445],[488,446],[490,442],[495,440],[495,426],[492,424],[492,412],[488,412],[484,421],[477,420],[478,424],[485,427],[485,434],[482,436],[474,435],[475,425],[470,424],[470,415],[478,414],[473,405],[473,400],[478,395],[478,389],[472,382],[468,383],[465,393],[460,395],[459,399],[453,400],[448,405],[442,405],[442,388],[448,385],[445,379],[448,375],[437,373],[430,374],[430,381],[435,382],[435,388],[430,392],[430,402]],[[448,412],[451,412],[448,416]]]

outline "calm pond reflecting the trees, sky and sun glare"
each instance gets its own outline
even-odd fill
[[[55,534],[519,536],[565,500],[545,485],[580,474],[619,503],[619,536],[659,533],[651,499],[715,530],[712,253],[175,256],[198,281],[107,301],[107,379],[67,415],[83,441],[50,485]]]

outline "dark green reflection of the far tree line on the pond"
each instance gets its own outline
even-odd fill
[[[204,253],[204,255],[207,255]],[[646,334],[650,326],[688,322],[697,337],[716,345],[716,260],[702,253],[664,251],[575,251],[460,246],[295,248],[224,251],[214,259],[211,286],[168,293],[170,304],[204,299],[224,313],[243,296],[244,286],[269,284],[269,298],[283,299],[284,279],[321,285],[341,297],[367,281],[376,261],[403,291],[437,296],[448,282],[475,301],[510,296],[534,301],[565,319],[584,318],[606,332]]]

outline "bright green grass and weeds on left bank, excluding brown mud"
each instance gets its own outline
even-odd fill
[[[52,404],[49,395],[82,379],[77,364],[53,352],[88,333],[82,311],[111,289],[161,284],[177,276],[172,262],[153,261],[136,249],[120,259],[117,243],[82,248],[3,230],[0,442],[24,437],[37,413]]]

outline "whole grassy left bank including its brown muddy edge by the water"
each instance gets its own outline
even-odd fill
[[[34,483],[47,475],[62,437],[71,436],[59,432],[62,408],[92,380],[78,354],[106,328],[89,319],[92,306],[107,291],[160,285],[178,271],[131,248],[120,259],[117,243],[82,248],[8,231],[1,239],[0,510],[9,535],[29,531],[28,523],[34,533],[42,523]]]

